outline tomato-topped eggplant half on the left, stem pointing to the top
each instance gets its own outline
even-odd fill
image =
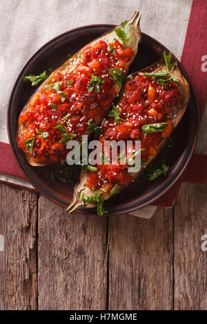
[[[91,124],[101,123],[137,54],[140,16],[135,12],[129,22],[86,45],[34,92],[17,130],[18,146],[30,165],[66,161],[66,143],[81,141],[83,134],[90,134]],[[44,79],[46,72],[39,77]]]

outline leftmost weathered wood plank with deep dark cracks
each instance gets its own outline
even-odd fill
[[[1,183],[0,196],[0,309],[36,310],[37,194]]]

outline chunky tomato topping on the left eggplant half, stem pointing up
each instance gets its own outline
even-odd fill
[[[52,84],[34,94],[21,113],[19,123],[26,131],[17,136],[19,148],[36,162],[66,161],[68,140],[86,133],[89,121],[103,119],[117,96],[110,69],[119,69],[124,77],[132,56],[132,48],[119,41],[83,48],[75,70],[56,72]]]

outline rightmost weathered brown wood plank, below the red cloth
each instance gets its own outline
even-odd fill
[[[175,214],[175,310],[207,309],[207,186],[183,183]]]

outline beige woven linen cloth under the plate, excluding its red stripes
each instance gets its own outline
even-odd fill
[[[118,24],[139,10],[141,30],[180,59],[191,4],[192,0],[1,0],[0,141],[8,143],[6,110],[14,82],[26,61],[44,43],[78,26]],[[14,177],[3,174],[0,180],[16,183]]]

